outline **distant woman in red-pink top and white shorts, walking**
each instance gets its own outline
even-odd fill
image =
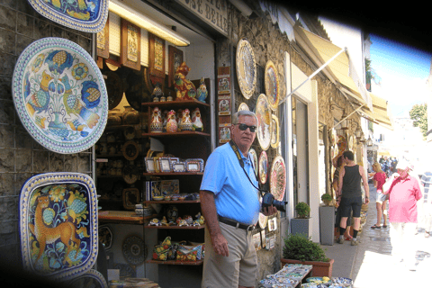
[[[374,187],[376,187],[376,224],[372,226],[372,229],[381,229],[381,216],[383,216],[383,228],[387,228],[387,217],[385,215],[385,206],[388,200],[387,194],[383,193],[383,184],[387,179],[387,175],[381,169],[381,165],[375,162],[372,168],[375,171],[374,174]]]

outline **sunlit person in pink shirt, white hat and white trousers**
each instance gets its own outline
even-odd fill
[[[415,271],[417,231],[417,202],[422,197],[419,181],[410,175],[410,163],[401,159],[396,173],[383,185],[383,192],[390,195],[389,220],[392,257],[404,261],[410,271]]]

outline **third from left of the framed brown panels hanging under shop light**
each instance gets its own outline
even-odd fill
[[[165,40],[150,32],[148,32],[148,70],[153,76],[165,78]]]

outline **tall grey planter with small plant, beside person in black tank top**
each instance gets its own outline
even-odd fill
[[[335,206],[334,199],[329,193],[321,195],[324,205],[320,206],[320,243],[321,245],[333,245],[335,243]]]

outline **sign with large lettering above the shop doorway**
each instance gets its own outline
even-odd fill
[[[212,28],[228,36],[227,1],[175,0]]]

